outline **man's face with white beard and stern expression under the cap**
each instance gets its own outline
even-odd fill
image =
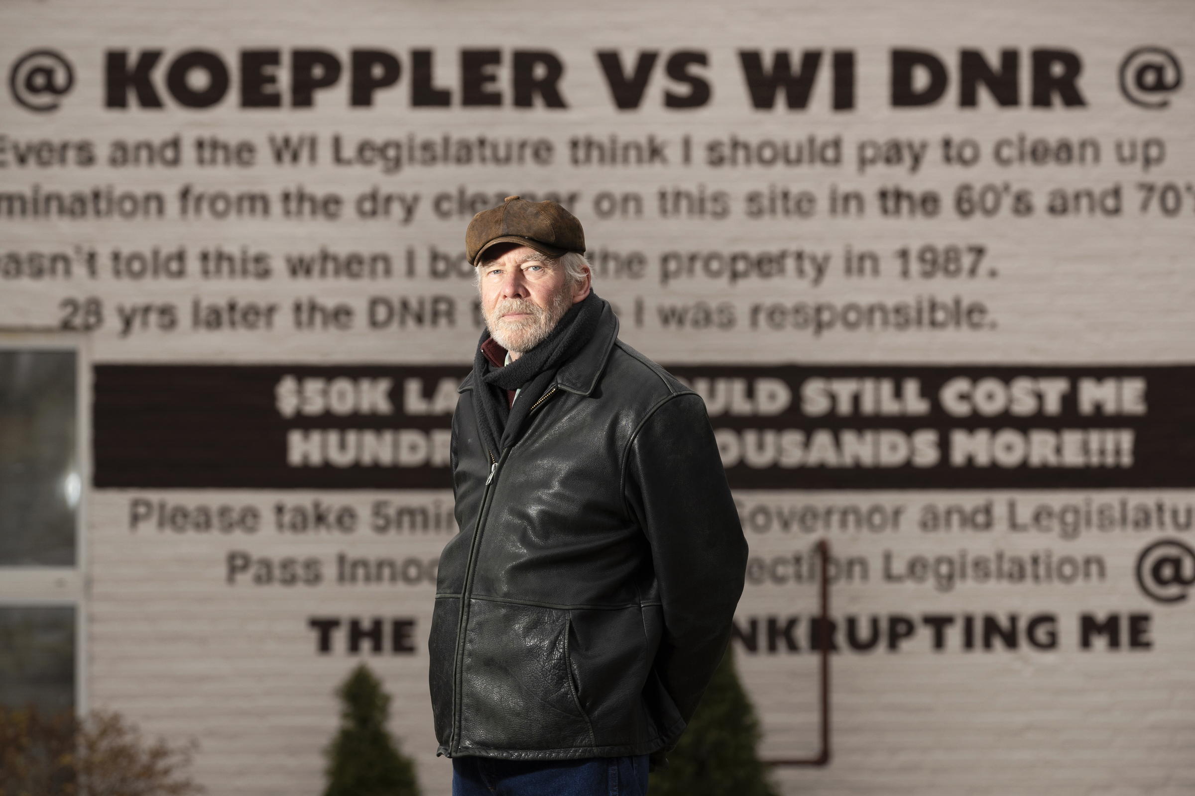
[[[516,246],[479,267],[482,311],[490,335],[517,359],[589,295],[589,277],[570,283],[563,267],[529,246]]]

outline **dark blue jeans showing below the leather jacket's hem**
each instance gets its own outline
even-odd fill
[[[582,760],[453,758],[452,796],[646,796],[648,755]]]

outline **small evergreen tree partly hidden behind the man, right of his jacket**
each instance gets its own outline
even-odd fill
[[[727,647],[710,687],[668,767],[651,773],[651,796],[776,796],[755,746],[761,736],[755,710],[735,673]]]

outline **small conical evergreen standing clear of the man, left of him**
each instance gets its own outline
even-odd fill
[[[324,796],[418,796],[415,764],[386,730],[390,696],[361,664],[341,685],[341,730],[327,747]]]

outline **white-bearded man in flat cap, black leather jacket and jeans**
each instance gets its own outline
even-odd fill
[[[429,641],[453,794],[643,794],[743,585],[705,406],[618,339],[564,208],[513,196],[465,240],[486,332],[453,418],[460,533]]]

